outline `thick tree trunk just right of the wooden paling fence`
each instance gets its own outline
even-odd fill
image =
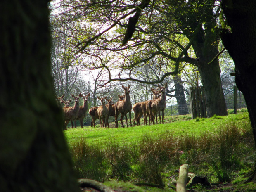
[[[219,35],[218,30],[214,29],[216,21],[213,16],[208,14],[206,17],[209,17],[209,22],[204,24],[204,30],[203,28],[199,30],[192,47],[197,56],[196,66],[204,87],[207,117],[212,117],[213,115],[225,116],[228,115],[228,112],[220,80],[218,59],[208,64],[218,54]],[[194,29],[196,26],[197,22],[191,24]],[[214,30],[212,31],[212,29]],[[187,37],[191,38],[189,35]]]

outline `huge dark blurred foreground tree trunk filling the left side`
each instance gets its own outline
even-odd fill
[[[0,191],[78,191],[50,75],[47,0],[0,1]]]

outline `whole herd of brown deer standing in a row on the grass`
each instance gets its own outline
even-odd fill
[[[101,105],[99,107],[92,107],[89,109],[89,114],[92,117],[91,126],[95,127],[95,120],[100,119],[101,127],[109,127],[109,117],[114,116],[115,118],[115,127],[118,128],[118,117],[121,114],[120,122],[123,125],[123,118],[126,117],[126,126],[128,127],[127,113],[129,113],[130,117],[130,126],[132,126],[131,121],[131,110],[134,111],[134,119],[133,126],[135,126],[135,122],[137,125],[140,125],[140,118],[142,115],[144,116],[144,125],[147,125],[147,117],[149,117],[149,125],[157,124],[157,115],[159,116],[159,123],[161,123],[161,115],[162,112],[162,123],[164,123],[164,110],[166,108],[166,87],[167,83],[164,86],[158,84],[157,89],[152,89],[153,99],[147,100],[144,102],[138,102],[132,106],[130,100],[130,85],[125,87],[122,85],[124,90],[124,95],[118,95],[119,101],[115,104],[112,101],[112,97],[107,99],[107,97],[97,97],[100,100]],[[83,119],[86,116],[88,110],[88,95],[79,94],[78,96],[71,95],[75,104],[73,107],[69,107],[69,103],[72,99],[68,101],[64,101],[64,95],[61,97],[56,97],[56,100],[59,104],[64,103],[63,112],[64,112],[64,130],[66,130],[67,124],[71,122],[71,126],[73,128],[73,122],[76,128],[76,120],[80,121],[80,125],[83,128]],[[79,98],[83,98],[83,105],[79,106]],[[107,102],[107,103],[106,103]]]

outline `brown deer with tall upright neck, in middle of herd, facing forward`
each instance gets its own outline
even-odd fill
[[[127,122],[127,113],[129,113],[129,116],[130,116],[130,126],[132,127],[132,120],[131,120],[131,110],[132,110],[132,104],[130,102],[130,85],[128,85],[128,87],[125,87],[122,85],[122,88],[124,90],[124,95],[125,95],[125,99],[122,100],[122,101],[118,101],[116,103],[116,108],[115,108],[115,123],[116,123],[116,128],[118,127],[118,116],[119,114],[121,113],[121,118],[120,118],[120,121],[121,121],[121,124],[122,126],[124,127],[123,125],[123,117],[125,116],[126,117],[126,126],[128,127],[128,122]]]

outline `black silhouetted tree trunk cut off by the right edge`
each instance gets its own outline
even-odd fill
[[[223,45],[235,63],[235,82],[243,93],[256,142],[256,1],[222,0],[228,26],[221,33]],[[249,180],[256,182],[256,162]]]

